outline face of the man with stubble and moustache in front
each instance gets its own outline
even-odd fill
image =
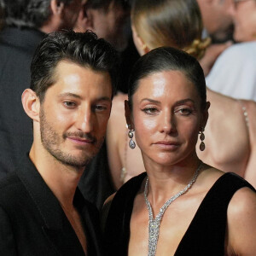
[[[60,61],[55,84],[40,107],[40,134],[50,157],[67,166],[85,166],[98,152],[111,110],[108,73]]]

